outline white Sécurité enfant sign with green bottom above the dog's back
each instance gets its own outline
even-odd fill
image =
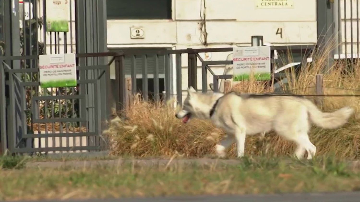
[[[233,79],[246,81],[251,76],[257,81],[271,79],[270,46],[233,48]]]

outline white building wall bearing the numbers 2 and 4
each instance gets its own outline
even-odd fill
[[[316,43],[316,1],[288,0],[293,2],[293,8],[278,9],[257,9],[257,2],[258,0],[172,0],[170,20],[108,20],[108,47],[204,48],[200,40],[203,39],[200,29],[203,12],[206,14],[209,48],[250,45],[253,35],[262,35],[265,43],[274,45]],[[141,27],[144,38],[131,39],[130,27]],[[276,34],[278,29],[282,29],[282,37]],[[232,59],[231,52],[212,53],[209,58],[226,59]],[[187,54],[183,54],[183,91],[188,87],[187,65]],[[198,65],[201,66],[199,60]],[[221,65],[212,69],[216,74],[224,72],[224,66]],[[173,72],[176,73],[175,69]],[[212,76],[208,75],[208,84],[212,81]],[[202,88],[200,67],[197,87]],[[173,89],[176,90],[175,80]]]

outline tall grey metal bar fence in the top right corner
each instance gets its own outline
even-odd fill
[[[318,0],[318,45],[336,43],[331,58],[350,61],[359,58],[359,6],[359,0]]]

